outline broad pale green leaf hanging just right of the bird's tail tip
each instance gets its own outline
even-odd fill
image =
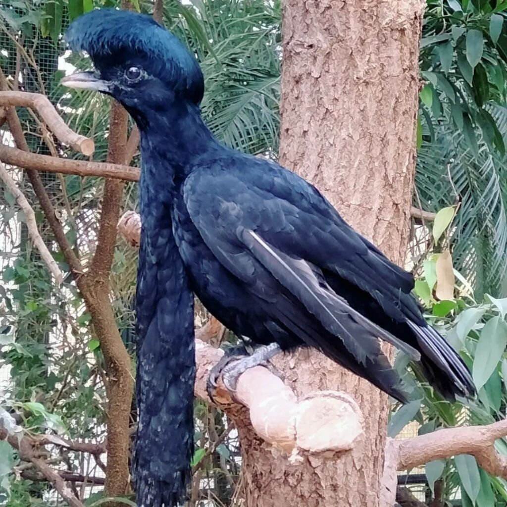
[[[482,328],[474,357],[472,377],[477,390],[488,381],[507,345],[507,323],[500,317],[490,318]]]

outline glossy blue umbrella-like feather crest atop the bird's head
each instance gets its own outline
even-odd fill
[[[96,66],[115,64],[127,56],[141,57],[173,88],[186,92],[194,102],[202,98],[203,77],[197,60],[149,15],[94,10],[70,24],[65,41],[73,51],[86,51]]]

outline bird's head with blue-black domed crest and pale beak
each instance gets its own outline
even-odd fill
[[[136,119],[178,101],[199,104],[204,81],[185,46],[151,16],[115,9],[91,11],[70,24],[65,40],[95,67],[63,78],[71,88],[112,95]]]

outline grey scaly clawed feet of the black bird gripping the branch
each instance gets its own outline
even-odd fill
[[[216,381],[222,375],[222,381],[228,391],[234,396],[239,377],[256,366],[265,366],[270,372],[277,377],[282,378],[281,373],[269,363],[269,360],[276,354],[281,352],[277,343],[271,343],[263,347],[259,347],[253,354],[246,356],[243,355],[224,355],[222,359],[210,371],[207,391],[208,395],[213,400],[212,392],[216,388]]]

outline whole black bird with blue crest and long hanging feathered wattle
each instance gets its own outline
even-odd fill
[[[189,479],[189,285],[236,335],[265,345],[225,366],[231,388],[242,371],[279,350],[311,346],[405,402],[380,338],[419,361],[447,399],[475,394],[462,359],[426,324],[410,273],[304,179],[211,135],[199,111],[201,70],[173,35],[149,16],[100,10],[76,20],[66,39],[88,52],[95,71],[64,84],[112,95],[141,135],[134,462],[140,505],[182,502]]]

